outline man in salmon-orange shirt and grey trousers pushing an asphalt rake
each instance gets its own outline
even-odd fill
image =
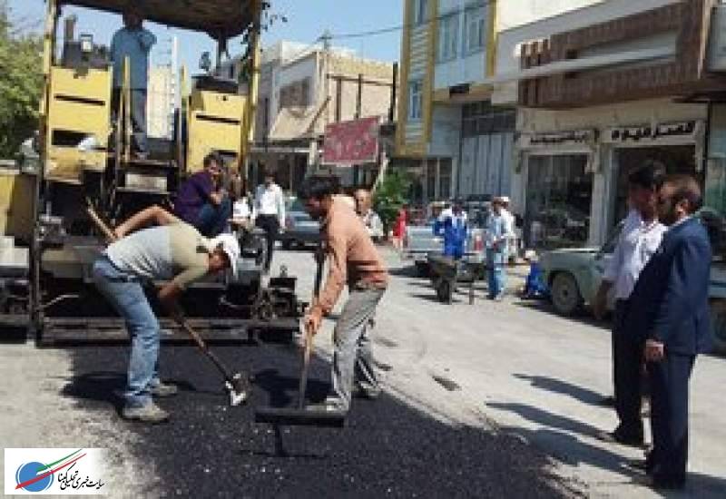
[[[321,220],[320,231],[329,259],[329,273],[319,300],[305,316],[317,333],[324,316],[335,307],[348,283],[348,301],[333,333],[332,381],[334,394],[322,409],[348,411],[354,383],[357,395],[375,398],[380,393],[373,368],[370,323],[388,286],[388,271],[368,230],[344,201],[334,200],[336,181],[310,177],[299,190],[299,199],[310,216]]]

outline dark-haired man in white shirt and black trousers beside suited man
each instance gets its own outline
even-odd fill
[[[629,299],[635,282],[661,245],[666,227],[658,221],[658,185],[665,176],[662,164],[649,161],[628,175],[628,199],[632,210],[594,299],[596,317],[603,317],[607,296],[613,293],[613,384],[619,425],[601,439],[624,445],[643,445],[641,396],[643,394],[643,345],[628,328]]]

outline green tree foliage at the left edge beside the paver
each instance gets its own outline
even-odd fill
[[[0,158],[12,158],[38,128],[42,50],[39,36],[14,33],[0,2]]]

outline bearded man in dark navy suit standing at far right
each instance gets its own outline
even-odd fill
[[[658,211],[670,229],[633,291],[629,314],[642,335],[651,383],[652,451],[646,469],[656,488],[682,488],[688,459],[688,384],[693,363],[711,350],[709,274],[711,244],[693,213],[701,189],[673,175],[658,191]]]

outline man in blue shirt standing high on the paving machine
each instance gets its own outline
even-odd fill
[[[123,62],[129,58],[131,126],[136,156],[146,158],[146,87],[149,80],[149,52],[156,44],[156,36],[142,26],[143,16],[138,5],[129,2],[123,11],[123,28],[113,34],[111,60],[113,61],[114,113],[119,113],[123,89]],[[117,130],[116,133],[122,133]],[[117,152],[118,153],[118,152]]]

